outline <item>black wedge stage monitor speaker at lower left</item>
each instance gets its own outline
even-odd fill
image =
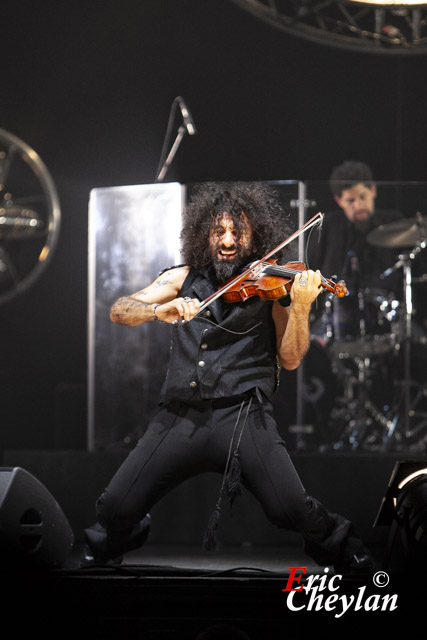
[[[44,485],[20,467],[0,467],[0,554],[8,563],[61,565],[74,534]]]

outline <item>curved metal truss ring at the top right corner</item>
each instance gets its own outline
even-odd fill
[[[383,55],[427,53],[427,2],[231,0],[294,36]]]

